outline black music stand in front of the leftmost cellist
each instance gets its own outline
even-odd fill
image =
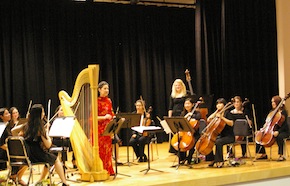
[[[178,136],[178,164],[173,165],[172,167],[176,167],[176,169],[180,166],[180,137],[179,132],[192,132],[194,133],[194,129],[188,123],[188,121],[184,117],[164,117],[165,121],[168,123],[169,128],[173,133],[177,133]]]

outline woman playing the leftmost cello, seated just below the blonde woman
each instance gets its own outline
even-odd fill
[[[189,124],[193,127],[194,129],[194,138],[193,138],[193,146],[192,148],[188,151],[188,155],[186,155],[187,152],[180,152],[180,161],[181,163],[185,163],[185,161],[187,161],[187,164],[190,165],[191,161],[192,161],[192,156],[194,154],[195,151],[195,143],[197,142],[197,140],[200,137],[199,134],[199,120],[201,118],[201,114],[200,111],[198,111],[197,109],[192,112],[193,108],[194,108],[194,100],[192,98],[186,98],[185,102],[184,102],[184,110],[181,113],[181,116],[184,116],[184,118],[186,118],[189,122]]]

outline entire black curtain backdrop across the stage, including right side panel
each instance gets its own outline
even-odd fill
[[[167,115],[172,82],[185,81],[185,69],[199,95],[248,97],[262,120],[278,93],[275,1],[198,3],[195,14],[189,8],[1,1],[0,107],[16,106],[25,116],[30,100],[46,106],[51,99],[54,110],[58,92],[71,93],[78,73],[95,63],[100,80],[110,84],[114,109],[131,112],[142,96],[157,124],[156,116]]]

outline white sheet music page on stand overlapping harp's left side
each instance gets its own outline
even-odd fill
[[[69,138],[74,124],[74,117],[56,118],[51,125],[49,136]]]

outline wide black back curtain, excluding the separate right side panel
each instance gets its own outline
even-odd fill
[[[1,1],[0,106],[25,116],[29,101],[59,104],[78,73],[100,65],[114,109],[167,115],[175,78],[194,73],[194,9],[70,1]],[[46,109],[47,111],[47,109]],[[158,120],[156,121],[158,124]]]

